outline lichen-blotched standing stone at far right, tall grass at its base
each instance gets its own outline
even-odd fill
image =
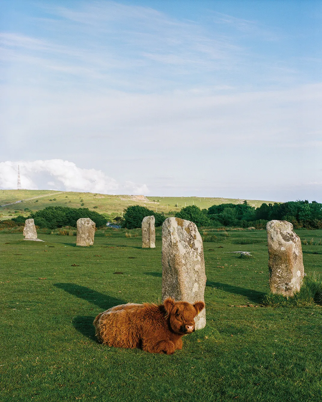
[[[293,296],[304,278],[301,239],[287,221],[267,222],[269,287],[272,293]]]

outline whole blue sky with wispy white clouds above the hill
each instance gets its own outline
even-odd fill
[[[1,8],[0,188],[322,202],[322,2]]]

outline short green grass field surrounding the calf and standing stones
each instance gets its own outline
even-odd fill
[[[161,299],[160,228],[155,249],[141,248],[139,230],[99,230],[86,248],[75,236],[0,234],[0,400],[321,401],[321,307],[260,307],[266,232],[213,233],[207,326],[170,356],[102,346],[92,326],[111,306]],[[322,246],[303,249],[306,272],[322,274]],[[253,257],[229,253],[238,250]]]

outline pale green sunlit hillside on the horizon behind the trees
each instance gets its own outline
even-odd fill
[[[35,198],[36,197],[36,198]],[[43,209],[49,205],[60,205],[63,207],[89,208],[98,213],[107,213],[111,217],[121,215],[122,211],[129,205],[142,205],[153,211],[164,212],[180,211],[187,205],[197,205],[199,208],[209,208],[211,205],[222,203],[239,204],[244,199],[230,198],[209,198],[209,197],[160,197],[151,196],[140,199],[136,195],[108,195],[97,193],[75,193],[71,191],[50,191],[50,190],[0,190],[0,205],[13,203],[19,200],[26,200],[22,203],[0,207],[0,219],[8,216],[25,215],[25,208],[32,211]],[[51,200],[51,201],[50,201]],[[262,203],[274,203],[275,201],[247,200],[250,205],[259,207]],[[97,207],[97,208],[94,208]],[[14,211],[18,211],[14,213]]]

